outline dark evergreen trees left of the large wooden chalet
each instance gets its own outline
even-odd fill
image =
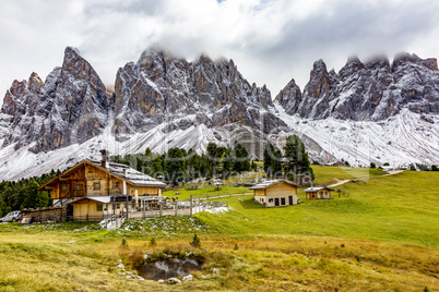
[[[0,183],[0,217],[10,211],[24,208],[39,208],[50,206],[50,198],[47,192],[36,191],[61,171],[51,171],[40,177],[22,179],[16,182],[2,181]]]

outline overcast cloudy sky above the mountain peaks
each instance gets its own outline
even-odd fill
[[[292,78],[304,88],[318,59],[337,72],[353,54],[439,57],[438,12],[436,0],[1,0],[0,104],[13,80],[61,65],[67,46],[111,86],[153,44],[233,59],[274,98]]]

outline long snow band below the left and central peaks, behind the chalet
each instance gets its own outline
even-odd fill
[[[194,117],[192,117],[194,119]],[[144,153],[151,148],[153,153],[164,153],[169,148],[180,147],[205,151],[209,142],[225,145],[230,139],[230,133],[224,129],[209,129],[204,124],[191,125],[186,130],[167,132],[168,124],[162,124],[145,133],[135,133],[128,139],[119,142],[111,133],[114,120],[98,136],[82,144],[72,144],[47,153],[35,154],[28,149],[29,144],[14,149],[14,144],[0,149],[0,181],[20,180],[50,172],[52,169],[63,170],[74,166],[84,158],[100,159],[99,149],[108,149],[111,155]],[[0,141],[1,142],[1,141]]]

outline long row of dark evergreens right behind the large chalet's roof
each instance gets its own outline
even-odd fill
[[[153,178],[162,175],[165,181],[180,183],[198,178],[227,178],[233,172],[249,171],[251,166],[247,149],[235,142],[233,147],[209,143],[206,153],[198,155],[194,150],[170,148],[159,155],[146,149],[144,154],[111,156],[114,162],[130,166]]]

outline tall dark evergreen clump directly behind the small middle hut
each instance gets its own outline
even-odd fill
[[[315,179],[305,145],[297,135],[288,136],[284,155],[269,141],[263,153],[264,171],[269,178],[286,178],[304,183],[304,178]]]

